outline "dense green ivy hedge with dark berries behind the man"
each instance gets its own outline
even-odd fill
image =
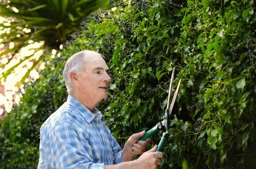
[[[255,3],[111,3],[83,21],[60,57],[27,84],[2,123],[1,168],[36,167],[39,127],[67,98],[63,66],[84,49],[102,53],[110,67],[109,98],[98,109],[121,145],[161,120],[176,67],[174,86],[182,82],[161,168],[255,168]]]

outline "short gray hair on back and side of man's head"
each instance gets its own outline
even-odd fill
[[[68,94],[70,94],[70,92],[72,92],[72,90],[73,90],[73,85],[72,85],[72,81],[70,79],[69,74],[71,72],[81,74],[85,54],[86,54],[86,51],[80,51],[78,53],[73,54],[69,58],[69,60],[67,61],[66,65],[64,67],[63,76],[64,76]]]

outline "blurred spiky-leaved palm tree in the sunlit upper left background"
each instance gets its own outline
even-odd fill
[[[0,49],[0,61],[8,60],[0,64],[1,68],[17,59],[19,51],[31,42],[44,42],[4,72],[1,78],[5,80],[16,67],[43,50],[40,57],[33,58],[32,67],[19,82],[23,83],[36,65],[49,58],[52,49],[59,49],[59,45],[69,39],[68,35],[78,30],[82,20],[91,12],[108,7],[107,0],[0,0],[0,16],[5,18],[2,23],[0,20],[0,40],[5,46]],[[9,48],[10,42],[13,42],[13,48]]]

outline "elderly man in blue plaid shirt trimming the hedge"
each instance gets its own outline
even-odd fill
[[[157,146],[144,152],[150,139],[138,142],[145,131],[133,134],[121,150],[95,108],[108,97],[108,69],[101,54],[90,50],[68,60],[63,74],[69,96],[40,128],[38,168],[132,169],[161,164]],[[142,155],[133,160],[137,154]]]

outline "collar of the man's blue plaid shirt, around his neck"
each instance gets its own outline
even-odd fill
[[[67,103],[72,105],[87,123],[91,123],[93,119],[104,120],[104,116],[97,108],[94,108],[93,112],[91,112],[86,106],[70,95],[68,96]]]

